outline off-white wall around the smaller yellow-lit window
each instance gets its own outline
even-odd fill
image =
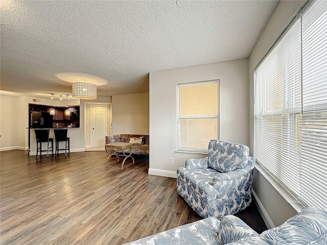
[[[176,152],[176,85],[217,79],[220,79],[220,139],[248,145],[247,59],[150,72],[149,174],[176,178],[176,169],[184,166],[185,160],[204,157]],[[169,163],[170,157],[174,158],[173,164]]]

